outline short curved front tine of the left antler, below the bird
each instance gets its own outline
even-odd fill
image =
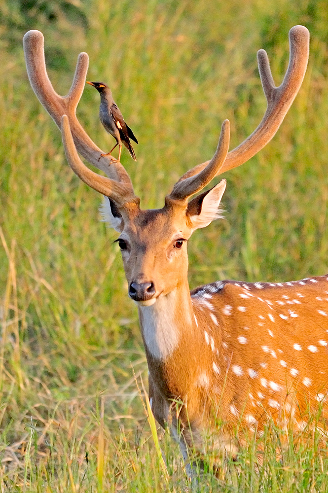
[[[61,118],[61,132],[68,163],[73,172],[84,183],[97,192],[110,197],[118,207],[124,207],[126,204],[136,204],[139,207],[139,198],[133,192],[131,193],[128,186],[117,180],[106,178],[106,176],[100,176],[83,164],[77,154],[67,115],[63,115]]]

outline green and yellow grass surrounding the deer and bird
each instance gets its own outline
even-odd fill
[[[267,50],[280,84],[295,24],[311,34],[302,88],[274,140],[226,174],[226,219],[189,242],[190,287],[328,271],[328,2],[1,3],[0,491],[167,489],[133,375],[146,381],[146,358],[117,235],[99,222],[100,197],[73,176],[28,83],[24,33],[43,32],[60,94],[77,54],[89,53],[89,80],[109,83],[140,141],[138,162],[123,150],[122,163],[142,207],[154,208],[183,172],[211,158],[223,119],[231,147],[254,130],[265,110],[256,51]],[[98,106],[86,87],[80,121],[109,149]],[[222,466],[220,489],[325,491],[318,443],[292,446],[281,467],[279,433],[268,433],[268,460],[256,469],[250,441],[238,466]],[[169,489],[178,491],[179,453],[166,436],[163,447]],[[203,485],[218,488],[211,476]]]

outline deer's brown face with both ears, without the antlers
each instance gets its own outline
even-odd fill
[[[152,305],[159,296],[186,282],[187,240],[196,228],[207,226],[219,216],[225,185],[222,180],[189,204],[167,200],[163,209],[132,214],[105,198],[103,216],[120,232],[117,242],[133,300]]]

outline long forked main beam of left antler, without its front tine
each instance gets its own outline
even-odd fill
[[[78,152],[96,168],[104,171],[110,178],[125,183],[133,192],[129,175],[118,162],[109,157],[100,157],[104,152],[90,139],[79,123],[75,111],[82,95],[89,65],[87,53],[80,53],[77,59],[71,89],[67,96],[55,92],[48,77],[44,59],[44,37],[40,31],[28,31],[23,38],[25,62],[31,86],[36,97],[60,128],[61,118],[66,114]]]

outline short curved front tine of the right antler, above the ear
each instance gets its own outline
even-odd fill
[[[206,168],[200,171],[196,176],[190,176],[182,181],[178,181],[170,195],[168,196],[173,200],[185,200],[191,195],[199,192],[210,181],[219,174],[220,169],[224,163],[229,149],[230,141],[230,122],[224,120],[222,123],[220,138],[216,153]]]

